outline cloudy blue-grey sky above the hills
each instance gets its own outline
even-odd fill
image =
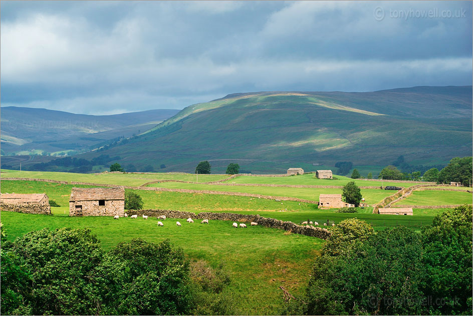
[[[0,103],[81,114],[230,93],[472,84],[472,2],[0,2]]]

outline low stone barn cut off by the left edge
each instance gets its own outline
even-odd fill
[[[41,194],[0,194],[0,208],[2,211],[30,213],[30,214],[51,214],[49,197],[46,193]]]

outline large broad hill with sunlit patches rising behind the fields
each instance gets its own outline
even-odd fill
[[[377,92],[258,92],[191,105],[148,132],[96,153],[122,163],[215,173],[229,162],[252,173],[288,166],[442,164],[471,152],[471,86]],[[306,168],[305,168],[306,169]]]

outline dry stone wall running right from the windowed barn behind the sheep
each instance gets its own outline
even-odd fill
[[[181,212],[171,210],[127,210],[129,215],[148,215],[151,217],[158,217],[165,215],[168,218],[194,218],[194,219],[209,219],[209,220],[221,220],[221,221],[235,221],[235,222],[255,222],[260,226],[284,229],[294,234],[300,234],[305,236],[317,237],[321,239],[329,238],[332,233],[325,228],[301,226],[293,222],[284,222],[274,218],[266,218],[260,215],[251,214],[235,214],[235,213],[213,213],[213,212],[201,212],[198,214],[192,212]]]

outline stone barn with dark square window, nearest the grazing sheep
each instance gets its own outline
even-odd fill
[[[72,188],[69,216],[124,216],[124,188]]]

